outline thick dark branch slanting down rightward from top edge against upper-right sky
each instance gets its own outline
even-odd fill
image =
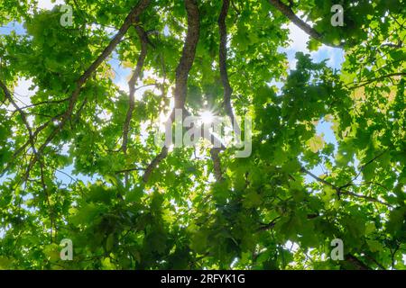
[[[272,4],[276,9],[278,9],[281,14],[284,14],[292,23],[298,26],[302,31],[306,32],[311,38],[320,41],[321,43],[328,45],[334,48],[342,48],[342,45],[334,45],[323,40],[323,35],[313,29],[308,23],[305,23],[301,20],[294,12],[291,10],[291,7],[287,4],[282,3],[280,0],[269,0],[269,3]]]

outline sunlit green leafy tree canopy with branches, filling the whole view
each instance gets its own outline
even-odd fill
[[[0,268],[405,268],[404,1],[36,2],[0,3]],[[289,68],[290,23],[342,67]],[[174,109],[251,117],[251,154],[157,146]]]

